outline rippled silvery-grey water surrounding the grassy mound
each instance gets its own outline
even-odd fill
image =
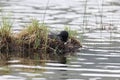
[[[85,5],[85,0],[0,0],[4,15],[11,15],[14,31],[36,18],[51,31],[67,25],[80,35],[84,32],[83,48],[68,57],[66,64],[23,64],[21,59],[14,59],[3,65],[1,61],[0,80],[120,80],[120,2],[88,0],[86,11]]]

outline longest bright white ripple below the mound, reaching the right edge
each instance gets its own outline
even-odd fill
[[[67,71],[84,71],[84,72],[107,72],[107,73],[120,73],[120,70],[111,69],[92,69],[92,68],[69,68],[69,67],[41,67],[41,66],[25,66],[25,65],[11,65],[12,68],[37,68],[37,69],[47,69],[47,70],[67,70]]]

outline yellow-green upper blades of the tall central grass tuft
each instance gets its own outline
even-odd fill
[[[47,44],[48,29],[44,24],[40,24],[38,20],[32,19],[31,23],[26,26],[25,31],[28,32],[28,35],[34,35],[35,43],[34,48],[37,49],[41,43],[41,39],[44,42],[44,45]]]

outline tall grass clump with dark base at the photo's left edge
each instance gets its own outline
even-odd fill
[[[0,51],[9,52],[12,43],[11,36],[12,23],[8,17],[2,17],[0,24]]]

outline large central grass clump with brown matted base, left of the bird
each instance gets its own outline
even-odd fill
[[[23,53],[33,51],[47,52],[49,30],[45,24],[40,24],[38,20],[32,19],[31,23],[25,25],[25,29],[18,34],[18,45]]]

